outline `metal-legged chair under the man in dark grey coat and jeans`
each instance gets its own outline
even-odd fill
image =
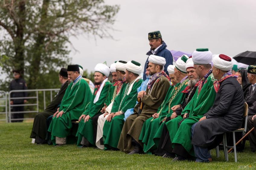
[[[247,119],[248,119],[248,104],[246,102],[244,105],[244,117],[245,117],[245,127],[241,128],[241,129],[230,131],[233,134],[233,146],[227,146],[227,132],[224,133],[222,144],[223,144],[224,156],[225,156],[226,161],[229,161],[228,148],[234,148],[235,162],[237,162],[236,146],[235,146],[235,132],[244,132],[244,134],[246,133]],[[219,146],[216,147],[216,155],[217,155],[217,157],[219,157]]]

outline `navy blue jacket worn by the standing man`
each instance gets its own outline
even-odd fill
[[[156,51],[155,55],[156,56],[161,56],[161,57],[165,58],[166,64],[165,64],[164,71],[166,72],[167,75],[169,75],[168,71],[167,71],[167,67],[169,65],[172,65],[173,59],[172,59],[171,52],[169,50],[167,50],[166,47],[167,47],[167,45],[163,41],[162,46],[160,48],[158,48],[158,50]],[[152,50],[149,50],[149,52],[147,52],[146,55],[150,56],[151,54],[152,54]],[[148,62],[149,62],[149,57],[147,58],[147,61],[146,61],[145,66],[144,66],[143,80],[146,80],[146,74],[145,73],[146,73],[146,67],[147,67]]]

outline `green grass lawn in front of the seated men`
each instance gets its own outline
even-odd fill
[[[0,169],[256,169],[256,153],[250,151],[248,142],[244,152],[237,154],[237,163],[233,153],[229,154],[229,162],[225,162],[222,150],[219,158],[211,150],[211,163],[171,162],[147,154],[31,144],[31,128],[31,122],[0,123]]]

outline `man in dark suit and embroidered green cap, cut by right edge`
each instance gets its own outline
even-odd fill
[[[256,65],[249,65],[247,71],[247,77],[251,83],[249,87],[249,96],[246,99],[246,102],[249,106],[248,110],[248,122],[247,122],[247,131],[251,130],[254,127],[254,130],[248,135],[251,151],[256,151]]]

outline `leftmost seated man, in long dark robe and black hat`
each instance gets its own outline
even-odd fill
[[[59,93],[54,96],[51,103],[47,106],[47,108],[38,113],[34,118],[33,128],[31,131],[30,138],[35,140],[37,144],[45,144],[46,134],[47,134],[47,125],[46,120],[49,116],[53,115],[61,103],[61,100],[65,94],[67,87],[69,86],[70,81],[68,80],[68,72],[66,68],[61,68],[59,71],[59,82],[62,84],[59,90]]]

